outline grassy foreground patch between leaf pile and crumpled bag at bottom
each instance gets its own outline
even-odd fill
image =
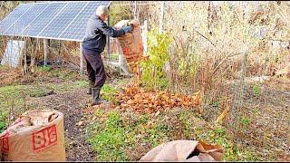
[[[169,110],[160,115],[124,110],[96,110],[88,127],[88,141],[98,154],[96,161],[136,161],[150,149],[175,139],[217,143],[225,149],[225,161],[261,160],[247,147],[238,147],[233,136],[220,126],[210,126],[193,110]]]

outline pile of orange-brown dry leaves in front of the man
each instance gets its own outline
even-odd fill
[[[199,110],[201,102],[199,92],[193,96],[172,94],[167,91],[145,91],[136,86],[131,86],[120,91],[116,96],[120,104],[117,109],[131,109],[137,112],[155,112],[169,110],[175,107]]]

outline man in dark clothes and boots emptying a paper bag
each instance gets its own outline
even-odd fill
[[[87,62],[87,72],[89,78],[89,91],[92,94],[93,103],[97,105],[104,102],[100,99],[101,88],[106,81],[101,53],[106,46],[106,36],[120,37],[131,32],[131,26],[123,27],[121,30],[113,29],[104,21],[108,19],[109,10],[105,5],[100,5],[96,14],[93,14],[86,26],[86,34],[82,43],[82,54]]]

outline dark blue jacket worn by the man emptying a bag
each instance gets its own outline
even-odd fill
[[[82,50],[84,53],[102,53],[106,46],[106,35],[119,37],[124,31],[115,30],[104,23],[100,16],[93,14],[86,26]]]

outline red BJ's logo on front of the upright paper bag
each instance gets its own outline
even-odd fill
[[[33,133],[34,153],[47,149],[57,142],[57,132],[55,124],[51,127]]]

